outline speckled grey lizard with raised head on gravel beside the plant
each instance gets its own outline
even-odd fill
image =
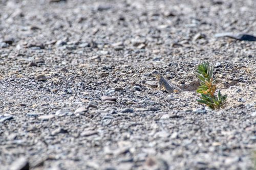
[[[161,73],[157,70],[154,70],[153,72],[151,72],[152,76],[155,76],[156,79],[158,80],[159,83],[159,90],[162,90],[162,88],[167,91],[168,93],[173,93],[173,92],[179,92],[179,91],[183,91],[181,90],[178,86],[172,84],[172,83],[168,83],[164,77],[161,75]]]

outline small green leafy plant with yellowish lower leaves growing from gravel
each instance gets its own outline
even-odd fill
[[[197,67],[197,76],[200,79],[200,86],[197,89],[198,93],[201,93],[199,103],[205,104],[211,109],[219,109],[225,100],[227,99],[227,94],[222,95],[218,92],[216,96],[214,93],[216,91],[215,79],[214,79],[214,69],[209,62],[203,62]]]

